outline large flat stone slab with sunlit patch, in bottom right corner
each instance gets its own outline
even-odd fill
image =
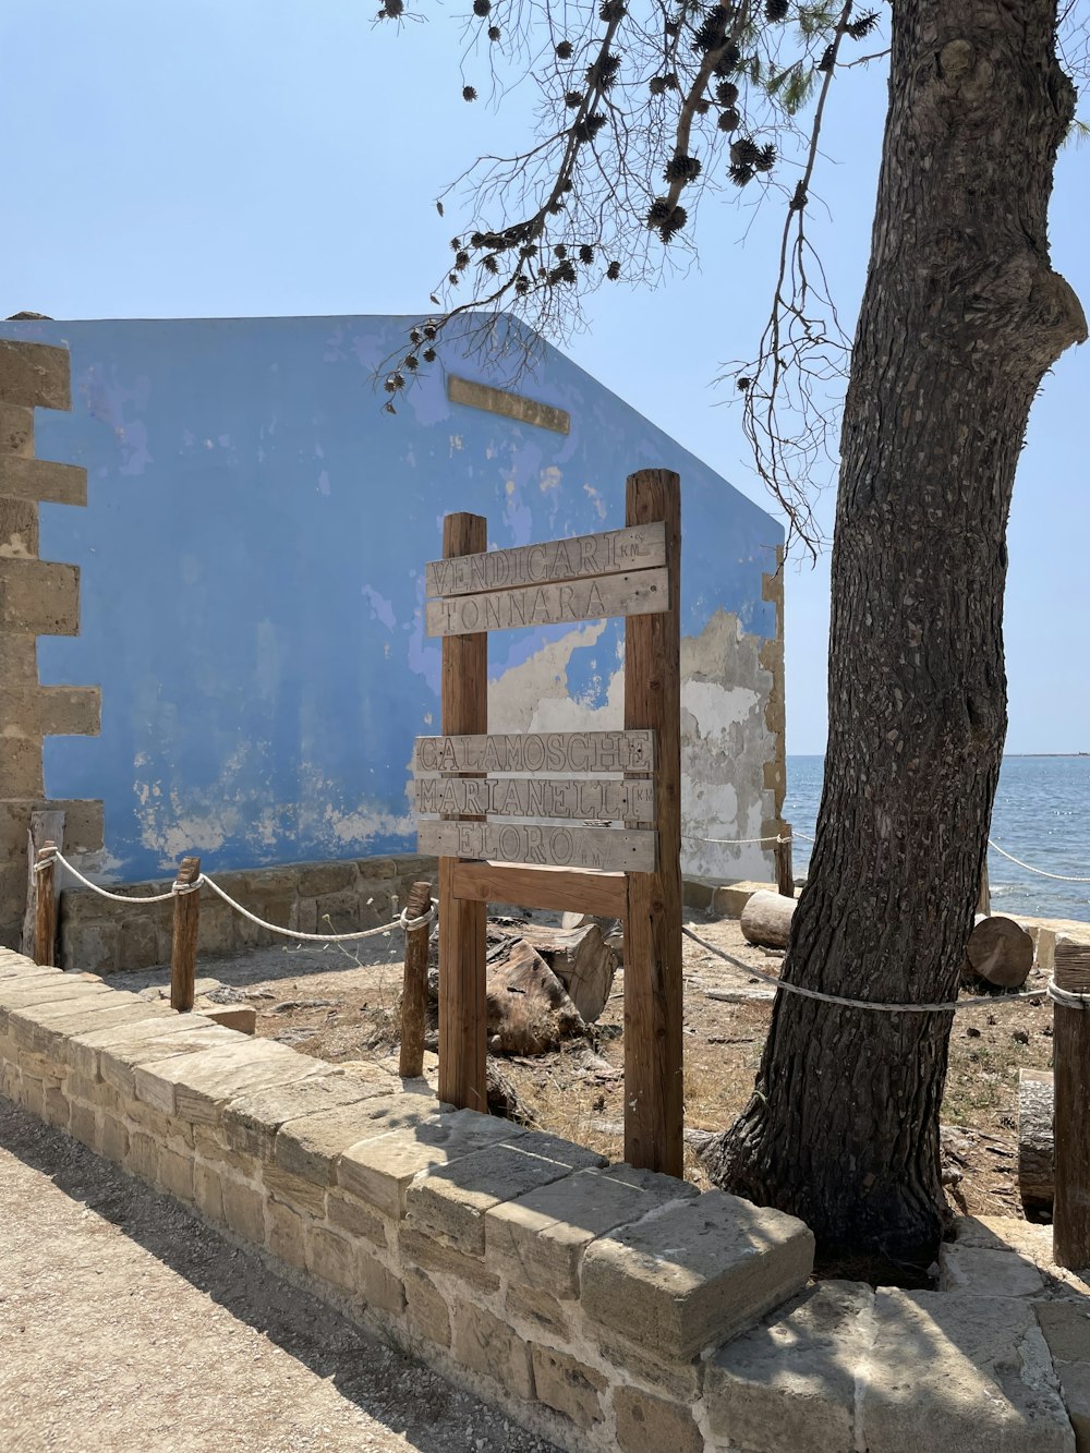
[[[856,1428],[868,1453],[1074,1453],[1030,1302],[879,1289],[875,1324]]]

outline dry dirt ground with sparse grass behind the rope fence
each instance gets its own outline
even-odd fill
[[[536,914],[539,920],[549,918]],[[498,920],[509,924],[509,920]],[[782,953],[754,949],[737,920],[689,926],[734,958],[776,974]],[[397,1053],[403,937],[359,944],[253,952],[237,959],[208,959],[198,974],[217,979],[217,995],[257,1010],[257,1033],[334,1062]],[[686,1129],[721,1130],[746,1106],[767,1035],[772,989],[731,968],[689,939],[685,944]],[[126,974],[126,988],[167,982],[166,971]],[[980,1007],[958,1014],[950,1039],[950,1074],[943,1104],[943,1146],[955,1207],[974,1215],[1022,1213],[1016,1187],[1017,1071],[1048,1068],[1052,1013],[1043,997],[1046,975],[1036,968],[1026,985],[1041,988],[1041,1003]],[[709,992],[728,991],[724,1003]],[[623,969],[594,1026],[593,1042],[557,1053],[506,1058],[503,1071],[541,1125],[613,1159],[623,1136]],[[435,1037],[429,1039],[435,1049]],[[692,1148],[686,1174],[706,1186]]]

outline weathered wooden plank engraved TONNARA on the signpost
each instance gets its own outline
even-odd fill
[[[606,616],[647,616],[667,609],[666,570],[594,575],[564,586],[523,586],[449,596],[424,604],[429,635],[471,635],[516,626],[562,626]]]

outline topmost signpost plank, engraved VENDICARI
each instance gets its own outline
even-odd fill
[[[558,586],[565,580],[618,575],[666,565],[666,525],[635,525],[600,535],[576,535],[544,545],[490,549],[433,559],[424,567],[424,594],[469,596],[514,586]]]

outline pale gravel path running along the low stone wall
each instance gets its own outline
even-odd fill
[[[4,1453],[552,1453],[0,1097]]]

